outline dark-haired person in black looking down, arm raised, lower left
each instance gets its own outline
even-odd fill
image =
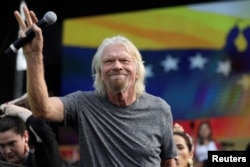
[[[14,104],[0,109],[1,160],[27,167],[62,166],[55,134],[45,120]]]

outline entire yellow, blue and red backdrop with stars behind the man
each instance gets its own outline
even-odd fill
[[[195,136],[209,119],[218,140],[250,142],[249,9],[239,0],[67,19],[61,93],[93,90],[96,48],[121,34],[141,51],[146,90],[170,104],[175,122]]]

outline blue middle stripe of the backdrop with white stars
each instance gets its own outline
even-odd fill
[[[93,90],[91,61],[95,51],[64,47],[62,95]],[[238,83],[250,67],[230,69],[232,57],[227,52],[176,49],[141,50],[141,54],[147,70],[146,90],[164,98],[175,119],[232,116],[249,110],[244,108],[249,93],[246,95]],[[237,62],[245,65],[247,59],[242,55]]]

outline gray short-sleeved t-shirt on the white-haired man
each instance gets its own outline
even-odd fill
[[[95,92],[61,97],[65,124],[79,137],[81,167],[160,167],[176,153],[170,106],[143,93],[121,107]]]

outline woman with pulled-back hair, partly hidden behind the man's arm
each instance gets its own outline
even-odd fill
[[[174,125],[174,142],[177,147],[176,166],[193,167],[194,143],[192,137],[179,124]]]

